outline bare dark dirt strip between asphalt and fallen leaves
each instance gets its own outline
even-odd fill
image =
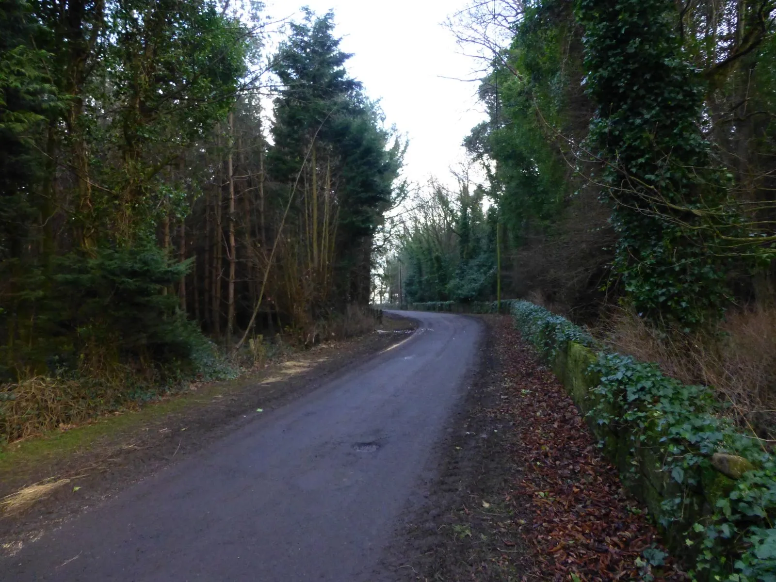
[[[494,316],[499,317],[499,316]],[[528,559],[521,546],[526,521],[509,499],[521,467],[512,424],[492,411],[508,380],[495,349],[493,318],[486,322],[480,365],[437,445],[437,479],[425,484],[425,503],[410,508],[381,568],[380,580],[521,580]]]

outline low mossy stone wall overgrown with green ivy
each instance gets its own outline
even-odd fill
[[[510,313],[692,579],[776,580],[774,456],[719,414],[707,387],[684,386],[654,365],[614,354],[584,329],[525,301],[502,300],[501,309],[495,302],[407,308]],[[644,381],[650,390],[639,388]]]

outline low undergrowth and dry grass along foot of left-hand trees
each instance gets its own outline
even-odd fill
[[[172,318],[169,323],[182,331],[177,341],[185,343],[185,357],[160,361],[139,350],[127,359],[109,345],[88,345],[79,357],[50,358],[47,373],[22,370],[16,381],[0,384],[0,446],[137,409],[185,390],[192,381],[234,379],[241,369],[262,368],[269,360],[319,341],[365,334],[374,329],[376,312],[348,306],[344,313],[331,314],[305,331],[290,331],[286,338],[258,334],[230,359],[195,324]]]

